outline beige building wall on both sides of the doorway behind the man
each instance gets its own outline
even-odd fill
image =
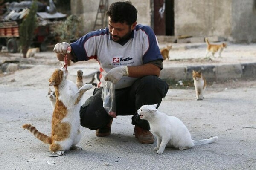
[[[81,34],[93,30],[99,1],[71,0],[71,13],[81,18]],[[109,5],[116,1],[125,0],[109,0]],[[154,0],[131,2],[138,10],[137,23],[153,26]],[[175,36],[256,41],[256,0],[174,0],[174,13]],[[105,26],[108,26],[107,21]]]

